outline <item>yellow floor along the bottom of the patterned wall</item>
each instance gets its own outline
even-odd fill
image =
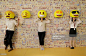
[[[39,48],[14,49],[11,52],[0,49],[0,56],[86,56],[86,47],[70,48],[45,48],[41,51]],[[5,55],[6,54],[6,55]]]

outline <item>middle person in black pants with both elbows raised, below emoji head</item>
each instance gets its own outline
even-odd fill
[[[39,43],[41,46],[41,50],[44,50],[44,38],[46,34],[45,24],[50,23],[50,20],[48,20],[47,18],[39,18],[39,19],[34,20],[34,22],[38,23]]]

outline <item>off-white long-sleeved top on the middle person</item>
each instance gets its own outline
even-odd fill
[[[50,20],[43,20],[41,22],[40,19],[36,19],[36,20],[34,20],[34,22],[38,23],[38,32],[44,32],[45,31],[45,24],[50,23]]]

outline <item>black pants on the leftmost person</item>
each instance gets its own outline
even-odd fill
[[[12,37],[13,37],[14,31],[11,30],[6,30],[6,36],[5,36],[5,46],[8,47],[8,45],[10,45],[10,48],[12,47]]]

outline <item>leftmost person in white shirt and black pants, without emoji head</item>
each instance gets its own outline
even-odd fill
[[[10,45],[10,51],[13,50],[13,47],[12,47],[12,37],[13,37],[13,34],[14,34],[14,27],[18,26],[19,25],[19,18],[18,18],[18,23],[16,22],[16,20],[12,19],[12,18],[9,18],[9,19],[6,19],[6,32],[5,32],[5,40],[7,43],[5,45],[5,50],[7,50],[8,48],[8,45]]]

